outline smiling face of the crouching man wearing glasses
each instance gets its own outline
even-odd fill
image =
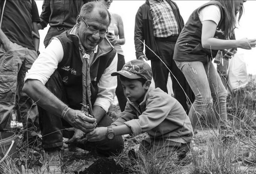
[[[98,32],[96,34],[91,34],[91,31],[87,27],[89,26],[100,32],[106,32],[109,24],[108,17],[106,17],[106,19],[100,17],[97,8],[95,8],[90,15],[85,18],[88,26],[82,19],[79,18],[80,17],[77,19],[78,36],[82,42],[82,45],[86,50],[94,49],[103,38],[100,37]]]

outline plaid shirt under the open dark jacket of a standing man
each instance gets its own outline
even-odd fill
[[[178,23],[166,0],[150,0],[154,37],[169,37],[179,34]]]

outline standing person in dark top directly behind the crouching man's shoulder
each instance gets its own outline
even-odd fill
[[[52,37],[71,29],[76,24],[76,17],[86,0],[44,0],[41,22],[37,24],[38,29],[42,30],[49,24],[50,28],[43,41],[47,47]]]

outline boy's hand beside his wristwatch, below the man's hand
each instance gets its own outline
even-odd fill
[[[98,142],[106,138],[106,133],[108,132],[107,127],[97,127],[93,131],[86,134],[89,142]]]

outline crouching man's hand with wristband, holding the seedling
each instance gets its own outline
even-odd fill
[[[68,110],[64,119],[72,126],[87,133],[93,131],[96,118],[90,118],[79,110]]]

